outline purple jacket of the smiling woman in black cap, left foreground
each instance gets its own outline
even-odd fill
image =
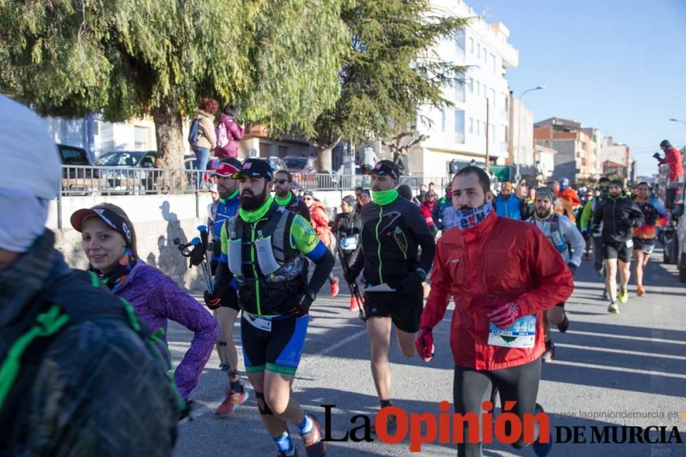
[[[191,347],[174,372],[176,386],[187,400],[198,385],[200,373],[217,342],[216,319],[170,277],[140,259],[115,295],[125,298],[152,332],[163,328],[166,334],[167,319],[170,319],[194,333]],[[163,341],[166,346],[166,336]],[[161,352],[167,359],[167,351]],[[167,364],[171,365],[169,360]]]

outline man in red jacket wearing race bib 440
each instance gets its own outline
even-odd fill
[[[534,225],[499,217],[486,173],[467,166],[453,178],[457,227],[438,240],[431,293],[416,340],[425,361],[433,356],[431,330],[455,301],[450,345],[455,362],[456,412],[480,415],[493,387],[511,412],[542,410],[536,404],[545,351],[543,311],[567,301],[572,275],[543,233]],[[535,410],[534,410],[535,408]],[[469,436],[465,421],[464,436]],[[538,432],[536,431],[536,435]],[[551,443],[534,443],[539,456]],[[525,446],[523,436],[513,444]],[[481,455],[481,443],[458,444],[458,455]]]

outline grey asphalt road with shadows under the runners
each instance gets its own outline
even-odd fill
[[[686,456],[686,444],[591,443],[593,427],[631,425],[647,428],[666,426],[667,437],[676,426],[686,443],[686,284],[678,282],[676,267],[659,262],[656,251],[646,271],[646,297],[630,299],[620,314],[606,312],[603,286],[595,278],[591,262],[584,262],[576,276],[576,290],[567,303],[571,325],[565,334],[556,330],[553,339],[557,357],[543,365],[538,401],[551,417],[553,433],[565,439],[567,429],[578,427],[587,443],[555,443],[551,456]],[[322,404],[332,404],[332,437],[362,423],[355,415],[372,418],[378,410],[369,369],[368,338],[357,313],[348,311],[345,286],[332,298],[325,284],[311,312],[303,359],[294,382],[294,395],[307,412],[320,420]],[[393,404],[408,412],[434,412],[438,403],[451,402],[453,365],[449,348],[449,319],[434,329],[436,356],[428,364],[407,359],[392,345]],[[239,328],[235,329],[240,351]],[[176,363],[189,347],[192,334],[171,323],[170,349]],[[239,353],[239,358],[241,358]],[[213,410],[228,387],[226,375],[217,369],[213,354],[200,384],[191,398],[198,408],[193,420],[179,426],[175,457],[186,456],[274,456],[276,447],[261,425],[254,397],[228,419]],[[243,367],[241,359],[241,369]],[[247,378],[244,378],[247,383]],[[250,391],[252,394],[252,391]],[[499,408],[496,410],[499,413]],[[682,417],[683,415],[683,417]],[[602,430],[602,429],[599,429]],[[611,429],[608,429],[608,432]],[[305,455],[295,427],[291,428],[300,456]],[[622,433],[617,439],[621,441]],[[654,441],[659,432],[652,430]],[[628,441],[628,435],[627,435]],[[635,439],[637,441],[637,439]],[[381,441],[329,443],[330,456],[407,456],[409,439],[389,445]],[[427,456],[454,456],[455,445],[423,445]],[[484,445],[485,456],[534,456],[532,449],[508,445]]]

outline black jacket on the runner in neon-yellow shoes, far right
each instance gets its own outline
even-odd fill
[[[604,243],[625,243],[630,240],[632,227],[645,223],[643,212],[636,201],[629,197],[608,197],[593,212],[593,227],[600,227],[602,222],[602,240]]]

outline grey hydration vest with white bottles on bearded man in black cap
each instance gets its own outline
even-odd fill
[[[290,245],[288,228],[295,214],[286,208],[278,207],[276,212],[263,225],[252,231],[251,239],[244,240],[244,221],[236,215],[226,221],[228,235],[228,269],[239,284],[246,283],[244,265],[249,265],[267,282],[284,282],[293,280],[303,272],[304,261]],[[257,236],[256,236],[257,235]],[[243,258],[243,247],[255,245],[257,258]],[[250,248],[252,249],[252,248]]]

